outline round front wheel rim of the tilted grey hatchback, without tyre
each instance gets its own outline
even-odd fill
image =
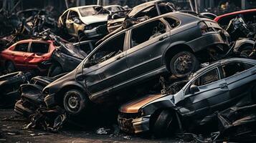
[[[65,100],[65,104],[68,112],[77,113],[80,111],[80,97],[76,93],[70,93],[67,95]]]

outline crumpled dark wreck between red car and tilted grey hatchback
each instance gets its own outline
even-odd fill
[[[58,45],[51,56],[52,66],[49,67],[48,77],[55,77],[75,69],[85,57],[93,51],[95,40],[80,41],[72,44],[63,41],[59,36],[52,36]]]

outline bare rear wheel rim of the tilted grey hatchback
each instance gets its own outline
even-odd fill
[[[174,61],[177,74],[188,74],[193,69],[193,59],[190,54],[183,54]]]

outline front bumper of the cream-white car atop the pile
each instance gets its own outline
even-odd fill
[[[84,33],[85,36],[89,39],[99,36],[105,36],[106,34],[108,34],[107,24],[97,26],[90,30],[85,30]]]

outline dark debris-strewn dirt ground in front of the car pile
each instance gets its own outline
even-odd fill
[[[41,129],[22,129],[28,120],[18,116],[13,109],[0,109],[0,142],[182,142],[180,139],[153,139],[128,134],[96,134],[97,129],[64,127],[60,132],[44,132]]]

